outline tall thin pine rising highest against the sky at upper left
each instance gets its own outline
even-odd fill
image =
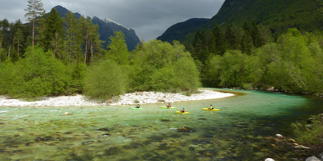
[[[36,24],[36,17],[45,14],[43,3],[41,0],[28,0],[27,9],[25,9],[25,17],[32,23],[32,46],[34,45],[34,31]]]

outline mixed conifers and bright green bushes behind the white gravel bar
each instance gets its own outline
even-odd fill
[[[110,99],[149,90],[189,95],[201,87],[194,60],[179,42],[151,40],[128,51],[125,35],[116,31],[103,49],[89,17],[77,19],[68,12],[62,18],[55,9],[48,15],[41,7],[33,10],[39,15],[28,16],[27,11],[30,23],[0,21],[1,95],[81,93]]]

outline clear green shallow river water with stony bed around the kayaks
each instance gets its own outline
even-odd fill
[[[1,161],[276,161],[306,158],[285,142],[323,100],[264,91],[223,99],[90,107],[0,107]],[[220,111],[205,111],[212,104]],[[189,115],[177,114],[185,107]],[[73,115],[64,115],[65,112]],[[193,132],[178,132],[190,127]],[[99,131],[101,130],[101,131]]]

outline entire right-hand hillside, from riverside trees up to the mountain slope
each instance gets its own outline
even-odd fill
[[[217,15],[190,35],[192,41],[190,37],[184,40],[199,68],[203,85],[274,87],[280,91],[323,95],[323,26],[320,25],[323,15],[318,11],[322,3],[281,1],[277,3],[287,6],[276,6],[273,11],[279,11],[278,14],[266,12],[269,15],[261,18],[257,16],[265,8],[261,6],[269,3],[260,5],[261,1],[226,0]],[[287,12],[301,5],[304,10]],[[283,21],[279,21],[281,17]],[[291,22],[296,25],[290,26]]]

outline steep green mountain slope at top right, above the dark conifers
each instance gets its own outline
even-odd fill
[[[216,24],[242,25],[245,21],[269,26],[280,32],[288,28],[323,29],[323,15],[316,0],[225,0],[219,12],[203,27]]]

